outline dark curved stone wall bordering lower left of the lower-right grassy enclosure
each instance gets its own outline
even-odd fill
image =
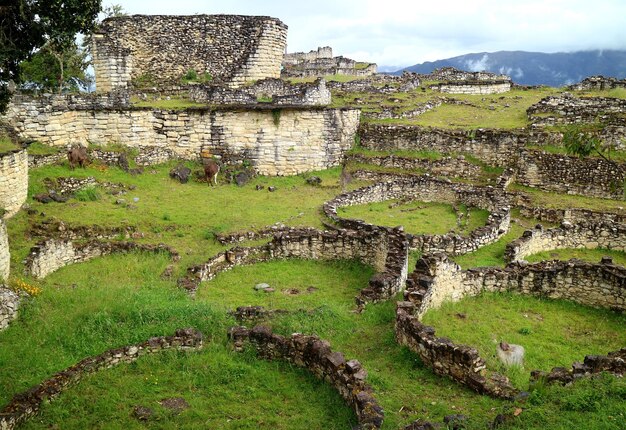
[[[400,345],[415,352],[436,374],[449,376],[480,394],[505,399],[515,397],[518,391],[508,378],[488,372],[485,360],[476,349],[436,337],[435,329],[422,324],[414,312],[415,304],[398,302],[395,330]]]

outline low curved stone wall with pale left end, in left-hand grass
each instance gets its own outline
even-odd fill
[[[178,253],[167,245],[140,245],[135,242],[90,240],[85,243],[65,239],[47,239],[31,248],[26,258],[26,272],[35,278],[44,278],[69,264],[82,263],[112,253],[135,251],[167,252],[177,260]]]

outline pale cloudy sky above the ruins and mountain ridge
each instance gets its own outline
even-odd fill
[[[626,49],[624,0],[103,0],[128,14],[269,15],[288,52],[410,66],[471,52]]]

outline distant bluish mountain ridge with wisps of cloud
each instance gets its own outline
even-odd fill
[[[555,54],[525,51],[481,52],[428,61],[405,67],[393,74],[401,74],[403,70],[427,74],[441,67],[503,73],[518,84],[560,87],[580,82],[592,75],[626,78],[626,51],[596,50]]]

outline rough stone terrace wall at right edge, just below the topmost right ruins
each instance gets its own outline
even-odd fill
[[[626,100],[609,97],[548,96],[526,110],[533,126],[604,122],[626,125]]]

